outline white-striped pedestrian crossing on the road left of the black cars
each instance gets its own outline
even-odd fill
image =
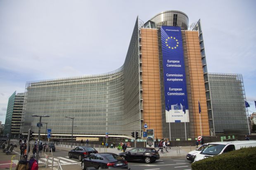
[[[59,156],[59,157],[54,157],[53,159],[52,159],[52,157],[49,157],[48,158],[48,166],[52,166],[52,164],[53,164],[53,166],[58,165],[58,159],[59,159],[59,162],[61,165],[72,165],[72,164],[80,165],[81,164],[80,161],[74,161],[74,160],[70,159],[68,156],[65,156],[65,157]],[[46,161],[47,161],[47,158],[39,158],[38,164],[45,165]],[[19,160],[12,160],[12,163],[14,163],[16,165],[18,164],[18,162],[19,162]]]

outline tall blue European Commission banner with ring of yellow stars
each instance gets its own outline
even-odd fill
[[[161,42],[166,122],[189,122],[187,85],[180,27],[162,26]]]

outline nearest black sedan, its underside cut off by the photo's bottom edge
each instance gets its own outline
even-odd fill
[[[81,163],[82,169],[94,167],[96,169],[128,169],[128,163],[121,156],[114,153],[100,153],[84,158]]]

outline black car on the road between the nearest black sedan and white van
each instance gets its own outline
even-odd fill
[[[134,148],[119,155],[126,161],[144,161],[145,163],[151,163],[160,158],[158,151],[150,147]]]

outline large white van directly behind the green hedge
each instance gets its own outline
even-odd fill
[[[194,158],[194,162],[229,151],[241,149],[242,147],[256,147],[256,140],[211,142],[199,154],[197,154]]]

